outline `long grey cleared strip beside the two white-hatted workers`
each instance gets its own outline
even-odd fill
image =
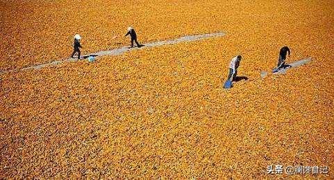
[[[200,39],[208,39],[210,37],[222,37],[226,35],[225,33],[210,33],[210,34],[202,34],[202,35],[187,35],[184,37],[179,37],[177,39],[169,39],[169,40],[165,40],[165,41],[160,41],[160,42],[149,42],[147,44],[144,44],[144,46],[142,46],[141,48],[150,48],[150,47],[156,47],[156,46],[163,46],[163,45],[167,45],[167,44],[178,44],[181,42],[194,42],[194,41],[198,41]],[[128,48],[127,46],[124,46],[122,48],[115,48],[112,49],[110,51],[99,51],[97,53],[90,53],[89,55],[83,55],[80,60],[84,60],[85,58],[89,57],[90,55],[93,56],[104,56],[104,55],[122,55],[125,52],[128,51],[133,51],[135,49],[140,49],[140,48]],[[44,67],[47,66],[57,66],[58,64],[62,64],[64,62],[76,62],[78,61],[77,59],[74,58],[68,58],[65,60],[55,60],[53,62],[48,62],[45,64],[38,64],[38,65],[33,65],[33,66],[28,66],[22,69],[12,69],[9,71],[1,71],[0,70],[0,74],[3,73],[9,73],[9,72],[14,72],[14,71],[26,71],[26,70],[33,70],[33,69],[42,69]]]

